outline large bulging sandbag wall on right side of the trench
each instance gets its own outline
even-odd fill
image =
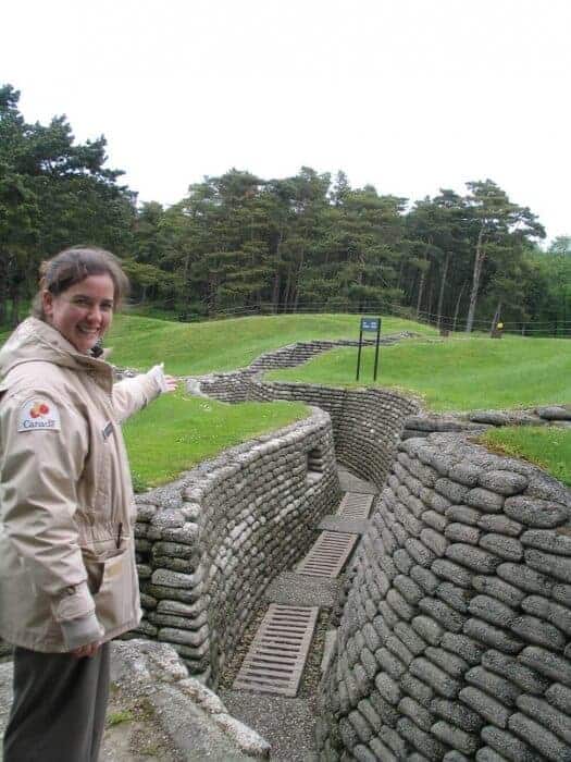
[[[571,760],[571,495],[460,434],[399,445],[321,685],[320,759]]]

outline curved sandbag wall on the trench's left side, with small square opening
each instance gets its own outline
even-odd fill
[[[318,409],[137,495],[135,635],[171,643],[215,686],[265,587],[338,499],[331,420]]]

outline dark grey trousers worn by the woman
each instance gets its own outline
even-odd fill
[[[14,649],[4,762],[97,762],[109,695],[109,643],[90,659]]]

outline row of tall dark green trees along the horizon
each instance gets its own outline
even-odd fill
[[[492,180],[411,202],[343,172],[231,169],[169,208],[138,205],[103,136],[77,144],[64,116],[28,124],[18,100],[0,87],[0,323],[21,319],[41,259],[82,243],[123,259],[135,303],[181,319],[397,311],[571,335],[571,237],[543,251],[537,217]]]

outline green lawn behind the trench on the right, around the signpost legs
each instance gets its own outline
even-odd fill
[[[271,371],[269,380],[339,386],[372,385],[374,351],[335,349],[298,368]],[[419,339],[381,348],[377,385],[422,396],[433,410],[530,407],[571,401],[571,342],[504,336],[445,341]]]

